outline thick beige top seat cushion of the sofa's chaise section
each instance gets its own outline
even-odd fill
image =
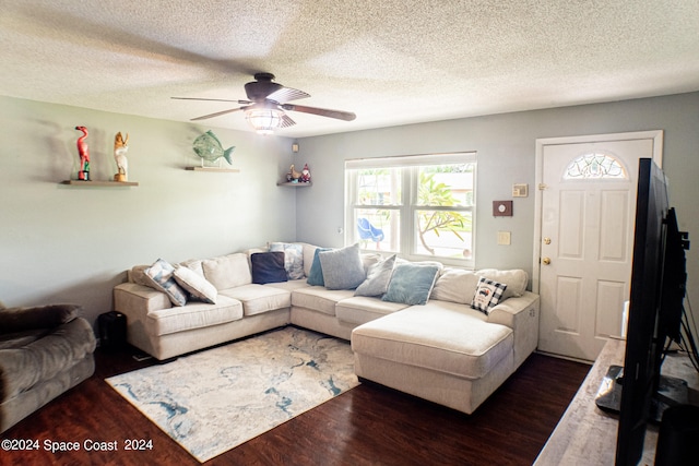
[[[352,349],[403,365],[481,379],[512,353],[512,330],[463,304],[433,301],[368,322]]]

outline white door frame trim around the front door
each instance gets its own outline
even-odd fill
[[[542,182],[544,178],[544,147],[547,145],[585,144],[608,141],[653,140],[653,160],[663,168],[663,130],[635,131],[628,133],[590,134],[581,136],[542,138],[536,140],[534,175],[534,256],[532,264],[532,291],[538,294],[541,286],[542,255]],[[632,247],[632,244],[631,244]]]

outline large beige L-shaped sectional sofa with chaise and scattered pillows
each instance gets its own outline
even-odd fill
[[[127,283],[114,290],[115,310],[127,315],[128,342],[162,360],[294,324],[351,340],[359,378],[467,414],[536,348],[538,296],[526,291],[523,271],[469,272],[359,255],[356,244],[325,251],[294,243],[295,252],[289,244],[272,246],[273,253],[260,248],[128,271]],[[333,254],[342,267],[329,278]],[[261,259],[276,261],[274,267],[283,261],[287,276],[268,283],[269,271],[257,265]],[[342,278],[348,263],[354,283]],[[417,286],[411,274],[427,278]],[[399,283],[403,278],[407,286]],[[174,284],[185,297],[173,291]],[[377,286],[384,292],[357,296]]]

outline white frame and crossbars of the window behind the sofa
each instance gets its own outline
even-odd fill
[[[434,206],[418,205],[417,187],[418,187],[418,167],[428,165],[454,165],[454,164],[474,164],[475,171],[473,175],[473,203],[467,206]],[[362,169],[370,168],[399,168],[402,171],[401,202],[392,205],[360,205],[356,203],[357,199],[357,176]],[[377,158],[356,158],[345,160],[345,244],[359,241],[355,225],[355,211],[360,208],[380,208],[386,211],[396,211],[400,213],[400,251],[395,251],[399,256],[413,261],[438,261],[448,265],[455,265],[464,268],[473,268],[475,266],[475,231],[476,231],[476,179],[477,179],[477,154],[475,152],[460,152],[446,154],[425,154],[408,155],[395,157],[377,157]],[[413,251],[417,249],[416,223],[417,211],[458,211],[469,212],[472,216],[472,239],[471,239],[471,256],[464,259],[436,256],[430,254],[417,254]],[[367,250],[367,252],[376,252]]]

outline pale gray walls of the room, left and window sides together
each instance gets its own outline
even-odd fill
[[[362,116],[358,116],[362,118]],[[339,247],[344,236],[344,160],[477,151],[476,266],[532,270],[534,153],[537,138],[665,130],[664,169],[680,228],[699,238],[699,93],[424,123],[291,140],[215,130],[236,145],[240,174],[201,174],[192,140],[206,127],[0,97],[0,300],[7,306],[83,304],[94,319],[111,309],[125,271],[164,258],[205,258],[270,240]],[[73,128],[84,124],[93,177],[116,171],[114,134],[131,134],[135,188],[59,184],[78,167]],[[313,186],[275,186],[289,164],[308,163]],[[514,216],[494,218],[491,201],[514,199]],[[512,231],[497,246],[498,230]],[[689,292],[699,296],[697,248],[688,254]]]

